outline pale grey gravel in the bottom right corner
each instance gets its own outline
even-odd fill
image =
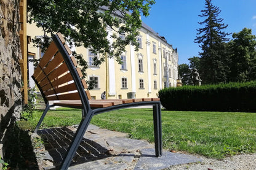
[[[215,160],[198,156],[201,158],[201,163],[180,164],[176,166],[170,166],[164,170],[255,170],[256,169],[256,153],[254,154],[242,154],[224,158],[222,160]]]

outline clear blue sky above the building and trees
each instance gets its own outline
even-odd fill
[[[188,58],[198,56],[200,48],[194,43],[196,29],[202,28],[199,17],[204,8],[204,0],[155,0],[150,16],[142,21],[164,36],[169,44],[178,48],[178,64],[189,64]],[[222,12],[218,18],[228,25],[226,33],[238,33],[243,28],[252,29],[256,34],[256,0],[212,0]],[[232,34],[231,34],[232,35]],[[231,38],[230,35],[230,38]]]

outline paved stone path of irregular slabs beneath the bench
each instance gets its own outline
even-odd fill
[[[41,138],[44,141],[44,146],[35,150],[39,169],[58,169],[76,128],[42,129],[32,134],[32,140]],[[157,158],[154,156],[153,144],[129,139],[128,136],[126,133],[89,125],[68,169],[158,170],[201,161],[191,155],[167,151]]]

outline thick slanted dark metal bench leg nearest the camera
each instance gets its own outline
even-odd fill
[[[83,112],[83,111],[82,111]],[[82,113],[84,115],[84,113]],[[70,147],[66,153],[66,156],[64,160],[62,161],[61,168],[62,170],[68,169],[70,166],[70,163],[72,161],[72,158],[74,157],[74,154],[76,153],[76,150],[79,147],[79,144],[82,140],[82,137],[84,136],[84,133],[86,133],[86,129],[90,123],[90,120],[92,119],[92,111],[88,112],[85,118],[82,118],[78,129],[76,130],[76,134],[74,134],[73,141],[70,144]]]

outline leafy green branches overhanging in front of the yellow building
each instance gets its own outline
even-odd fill
[[[77,47],[90,48],[94,53],[105,54],[116,58],[125,50],[126,45],[138,47],[136,37],[142,21],[140,14],[148,16],[154,0],[28,0],[29,22],[36,23],[44,30],[43,43],[35,39],[40,47],[46,47],[49,37],[46,34],[62,33],[66,40]],[[107,39],[107,27],[114,30]],[[125,34],[125,39],[119,37]],[[81,56],[77,56],[82,61]],[[100,64],[94,58],[94,64]],[[84,63],[86,64],[86,63]]]

